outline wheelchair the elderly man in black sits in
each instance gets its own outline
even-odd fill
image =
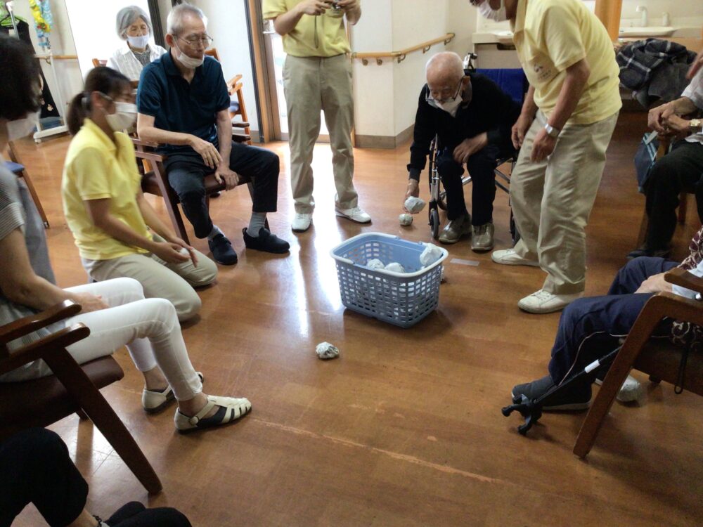
[[[464,58],[464,69],[476,71],[474,60],[477,58],[476,53],[467,53]],[[430,232],[432,233],[432,238],[435,240],[439,238],[439,209],[446,211],[446,190],[442,188],[439,170],[437,169],[437,157],[439,156],[440,150],[439,136],[434,136],[432,143],[430,143],[430,161],[428,166],[430,176],[430,201],[427,203],[427,214],[429,215]],[[496,187],[508,193],[508,207],[510,207],[510,176],[512,175],[512,169],[515,168],[516,162],[517,152],[515,152],[515,156],[513,157],[498,159],[498,165],[494,170]],[[508,163],[510,163],[510,173],[501,170],[501,167]],[[461,184],[464,186],[469,183],[471,183],[471,174],[467,172],[467,174],[461,178]],[[515,226],[515,217],[512,215],[512,208],[510,209],[510,238],[512,238],[512,245],[515,245],[517,240],[520,240],[520,233]]]

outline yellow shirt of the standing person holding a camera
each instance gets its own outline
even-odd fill
[[[288,13],[303,0],[264,0],[264,20]],[[344,16],[332,9],[324,14],[302,15],[295,28],[283,35],[283,51],[294,57],[334,57],[349,53]]]

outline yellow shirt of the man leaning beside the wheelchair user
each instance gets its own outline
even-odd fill
[[[547,116],[557,104],[565,70],[583,58],[591,75],[569,122],[592,124],[621,108],[612,41],[581,0],[519,0],[513,32],[534,101]]]

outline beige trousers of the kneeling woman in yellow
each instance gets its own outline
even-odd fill
[[[153,235],[157,242],[164,241]],[[195,251],[198,267],[188,260],[167,263],[155,254],[129,254],[110,260],[86,260],[83,266],[93,280],[103,282],[112,278],[134,278],[140,282],[144,297],[169,300],[176,308],[178,319],[188,320],[200,311],[202,302],[193,287],[202,287],[217,278],[217,265],[205,254]]]

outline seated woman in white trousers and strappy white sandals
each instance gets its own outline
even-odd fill
[[[0,36],[0,152],[11,139],[32,131],[26,126],[39,109],[39,65],[31,48],[12,37]],[[32,93],[15,98],[7,94]],[[108,110],[105,110],[107,113]],[[124,150],[120,151],[120,155]],[[193,370],[173,304],[145,299],[141,284],[117,278],[61,289],[53,276],[44,225],[24,183],[0,164],[0,325],[75,301],[82,311],[9,345],[10,353],[63,327],[83,323],[90,336],[67,347],[79,364],[108,355],[122,346],[145,379],[142,403],[154,412],[177,401],[176,429],[189,431],[225,424],[252,408],[245,398],[214,397],[202,393],[202,377]],[[35,360],[0,376],[0,382],[19,382],[51,375],[43,360]]]

